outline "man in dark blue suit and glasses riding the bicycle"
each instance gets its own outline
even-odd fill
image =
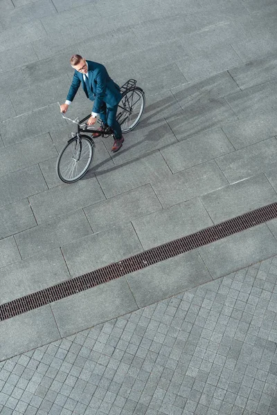
[[[99,118],[102,121],[100,130],[107,126],[111,127],[115,136],[114,145],[111,147],[111,151],[115,153],[122,147],[124,142],[120,124],[116,121],[118,103],[122,98],[120,87],[111,80],[107,73],[107,69],[102,64],[89,60],[87,61],[80,55],[73,55],[70,59],[70,63],[75,71],[69,93],[66,97],[66,102],[60,106],[60,110],[62,113],[66,113],[69,104],[73,101],[79,86],[82,83],[82,88],[84,89],[87,98],[93,101],[91,117],[87,121],[87,124],[95,124],[97,116],[99,115]],[[93,137],[99,136],[100,133],[93,133]]]

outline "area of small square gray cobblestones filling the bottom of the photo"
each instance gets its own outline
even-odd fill
[[[274,257],[3,361],[0,412],[276,415],[276,276]]]

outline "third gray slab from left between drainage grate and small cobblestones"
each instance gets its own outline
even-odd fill
[[[139,308],[211,281],[196,250],[161,261],[126,276]]]

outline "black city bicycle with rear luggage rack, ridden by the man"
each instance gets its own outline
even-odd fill
[[[120,87],[122,99],[118,104],[116,120],[118,120],[123,133],[132,131],[141,120],[145,109],[145,94],[139,86],[136,86],[136,80],[130,79]],[[64,183],[74,183],[87,173],[91,166],[95,143],[92,136],[84,133],[100,133],[104,138],[113,136],[114,133],[110,127],[102,126],[102,130],[89,128],[85,121],[91,116],[82,120],[71,120],[62,113],[65,120],[69,120],[78,125],[78,131],[71,133],[72,138],[66,143],[57,158],[56,172],[57,176]]]

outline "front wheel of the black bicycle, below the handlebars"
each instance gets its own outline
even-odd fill
[[[89,136],[79,135],[67,142],[57,158],[57,176],[74,183],[87,173],[93,160],[94,146]]]

